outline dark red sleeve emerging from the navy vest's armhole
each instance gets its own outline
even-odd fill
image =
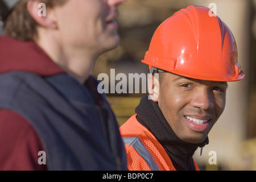
[[[0,170],[46,170],[38,163],[44,147],[31,125],[19,114],[0,110]]]

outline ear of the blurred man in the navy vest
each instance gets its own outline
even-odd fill
[[[45,16],[42,16],[42,11],[46,11],[45,6],[40,5],[40,1],[28,1],[27,2],[28,13],[32,18],[42,27],[57,29],[56,15],[52,9],[47,9],[43,12]],[[41,15],[40,15],[41,14]]]

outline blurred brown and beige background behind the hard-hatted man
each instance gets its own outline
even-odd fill
[[[127,0],[119,6],[121,44],[98,59],[93,74],[110,77],[112,68],[115,75],[125,73],[127,78],[128,73],[148,73],[141,60],[160,23],[189,5],[209,7],[210,3],[216,3],[217,16],[236,38],[245,78],[229,82],[225,111],[210,131],[203,155],[196,151],[194,158],[201,170],[256,170],[256,0]],[[107,94],[120,126],[135,114],[145,95]],[[216,152],[217,164],[209,164],[210,151]]]

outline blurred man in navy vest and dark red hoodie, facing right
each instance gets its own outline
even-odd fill
[[[0,1],[0,170],[127,169],[117,121],[90,75],[118,46],[122,2]]]

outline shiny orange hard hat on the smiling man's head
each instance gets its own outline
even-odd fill
[[[165,20],[152,36],[142,63],[200,80],[242,80],[236,40],[210,12],[207,7],[188,6]]]

